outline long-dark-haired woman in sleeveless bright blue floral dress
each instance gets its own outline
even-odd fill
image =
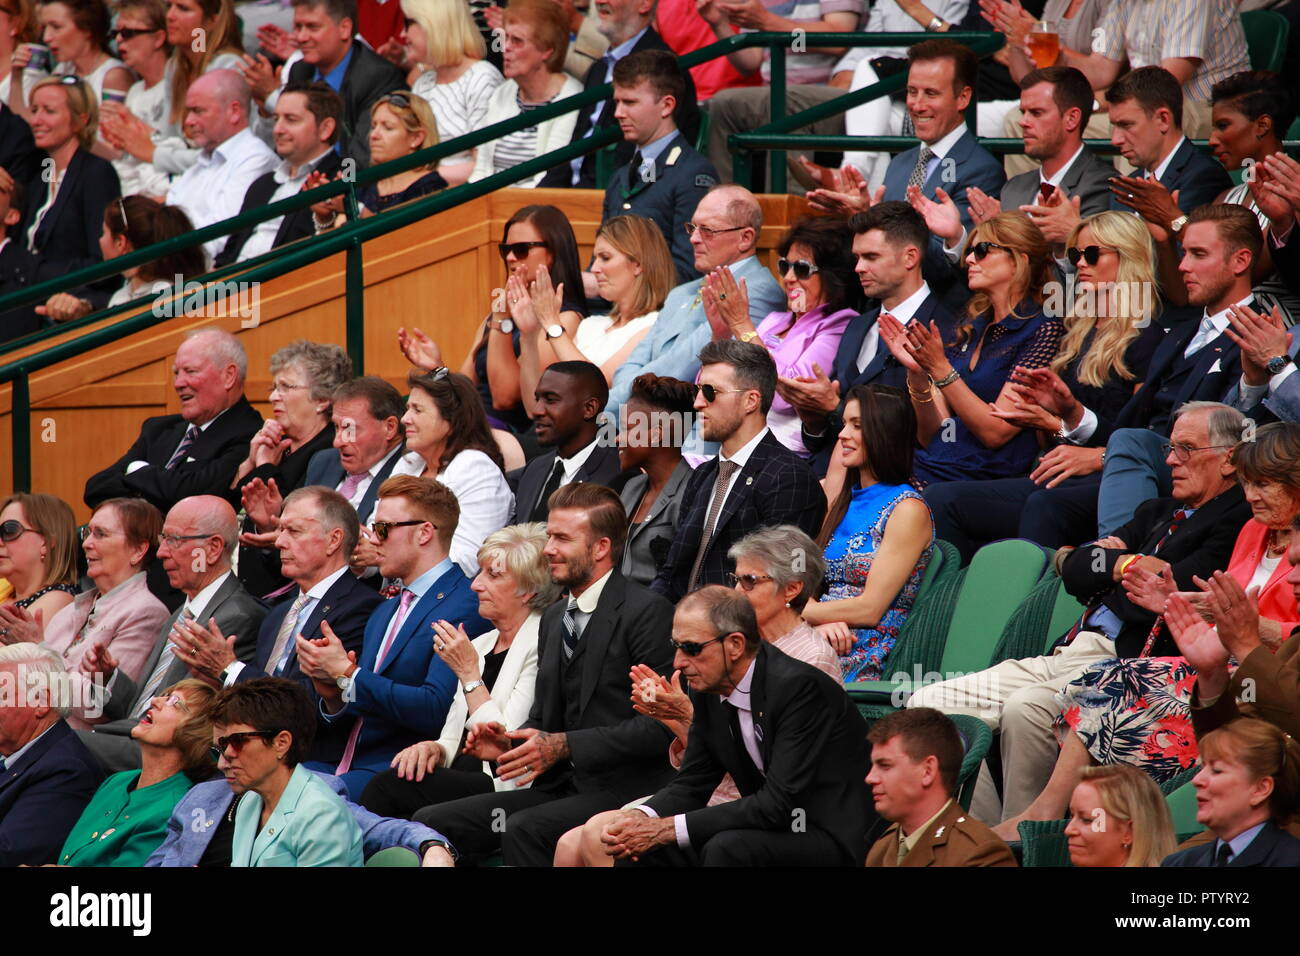
[[[858,386],[844,405],[837,454],[844,488],[827,511],[827,594],[803,618],[840,654],[844,680],[880,680],[935,544],[935,522],[911,485],[916,415],[900,389]]]

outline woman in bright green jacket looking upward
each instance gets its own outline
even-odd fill
[[[131,739],[140,744],[140,769],[113,774],[58,852],[60,866],[143,866],[166,836],[172,810],[195,783],[216,770],[212,704],[217,692],[186,679],[161,691]]]

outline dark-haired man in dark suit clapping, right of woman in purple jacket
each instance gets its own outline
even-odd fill
[[[829,377],[814,365],[811,376],[776,380],[776,390],[800,415],[803,446],[812,453],[818,476],[826,475],[844,427],[845,395],[858,385],[902,388],[907,381],[907,369],[880,339],[880,313],[888,312],[905,325],[914,319],[926,328],[937,323],[945,341],[954,325],[952,313],[922,277],[930,230],[919,212],[907,203],[876,203],[854,213],[849,228],[854,233],[858,281],[874,303],[845,329]]]

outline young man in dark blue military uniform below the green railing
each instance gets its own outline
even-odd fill
[[[699,272],[686,222],[718,183],[718,170],[692,148],[673,120],[685,75],[677,59],[663,49],[638,51],[615,64],[614,118],[636,152],[610,177],[602,219],[634,213],[654,220],[672,250],[677,278],[689,282]]]

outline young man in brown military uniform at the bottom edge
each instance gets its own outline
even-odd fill
[[[957,801],[962,737],[932,708],[896,710],[872,724],[867,783],[893,826],[867,866],[1015,866],[1011,848]]]

